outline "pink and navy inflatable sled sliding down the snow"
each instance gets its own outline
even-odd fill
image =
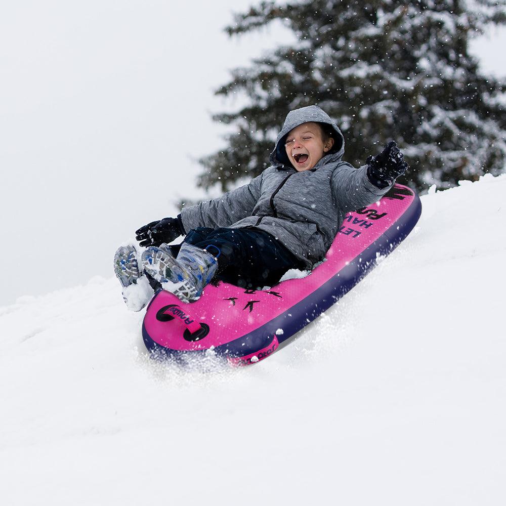
[[[326,261],[304,278],[267,290],[207,285],[191,304],[160,290],[144,317],[144,343],[176,358],[212,349],[232,364],[263,360],[355,286],[411,232],[420,213],[414,192],[395,185],[379,202],[346,215]]]

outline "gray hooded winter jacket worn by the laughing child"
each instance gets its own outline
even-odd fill
[[[290,130],[309,121],[329,124],[334,145],[311,170],[298,172],[284,143]],[[367,165],[356,169],[342,161],[344,150],[343,134],[322,109],[293,110],[277,136],[271,166],[247,185],[184,208],[183,226],[187,232],[196,227],[265,230],[311,268],[325,257],[346,213],[376,202],[391,188],[376,188],[367,178]]]

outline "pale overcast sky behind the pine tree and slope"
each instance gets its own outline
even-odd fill
[[[213,91],[291,36],[276,24],[228,38],[250,4],[4,3],[0,305],[113,275],[118,244],[177,214],[179,196],[203,195],[195,160],[223,146],[210,113],[238,105]],[[501,47],[503,30],[475,45],[504,75]]]

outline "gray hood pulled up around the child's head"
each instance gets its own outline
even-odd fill
[[[307,107],[301,107],[300,109],[294,109],[287,114],[283,123],[283,128],[276,137],[276,147],[269,157],[271,165],[284,165],[285,167],[292,166],[288,156],[286,155],[284,147],[286,136],[290,130],[293,130],[302,123],[307,123],[309,121],[326,123],[330,125],[334,131],[334,145],[323,158],[331,155],[332,160],[339,160],[343,156],[345,152],[345,138],[343,137],[341,130],[339,130],[338,125],[330,119],[330,116],[323,109],[320,109],[317,105],[309,105]]]

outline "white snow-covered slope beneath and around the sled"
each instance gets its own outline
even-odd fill
[[[115,279],[0,308],[2,504],[506,503],[506,176],[269,359],[154,363]]]

